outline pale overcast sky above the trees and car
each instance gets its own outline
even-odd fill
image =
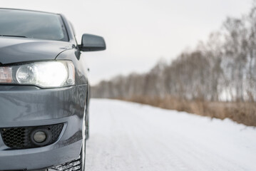
[[[220,29],[227,16],[250,11],[252,0],[9,0],[1,8],[61,13],[78,43],[83,33],[105,38],[106,51],[84,52],[91,85],[117,75],[145,73]]]

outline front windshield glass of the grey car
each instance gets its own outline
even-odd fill
[[[14,9],[0,9],[0,36],[68,41],[58,14]]]

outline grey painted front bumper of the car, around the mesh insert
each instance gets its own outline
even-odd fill
[[[86,85],[0,86],[0,128],[64,123],[58,140],[45,147],[15,150],[0,136],[0,170],[36,170],[78,158],[84,139],[86,92]]]

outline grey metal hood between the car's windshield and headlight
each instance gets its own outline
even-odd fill
[[[0,63],[54,60],[59,53],[73,46],[72,43],[66,41],[0,36]]]

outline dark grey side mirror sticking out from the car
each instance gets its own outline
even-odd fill
[[[106,49],[106,43],[101,36],[85,33],[82,36],[82,43],[79,48],[81,51],[103,51]]]

